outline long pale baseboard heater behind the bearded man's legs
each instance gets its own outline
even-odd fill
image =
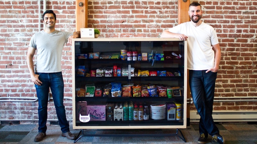
[[[257,110],[213,110],[214,122],[240,122],[257,121]],[[200,115],[197,111],[190,111],[190,122],[199,122]]]

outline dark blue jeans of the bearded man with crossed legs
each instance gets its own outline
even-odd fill
[[[219,133],[219,129],[212,118],[217,72],[205,73],[205,71],[206,70],[189,70],[189,86],[194,105],[201,116],[199,133],[213,136]]]

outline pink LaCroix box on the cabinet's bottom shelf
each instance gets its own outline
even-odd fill
[[[90,121],[105,121],[105,106],[106,105],[87,105],[86,115],[90,115]]]

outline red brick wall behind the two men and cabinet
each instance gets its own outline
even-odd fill
[[[177,25],[177,0],[88,0],[88,27],[100,37],[160,37]],[[222,60],[216,96],[257,96],[257,1],[200,1],[202,20],[216,29]],[[41,1],[41,14],[43,13]],[[57,15],[56,29],[75,31],[75,0],[47,0]],[[38,0],[0,1],[0,97],[35,97],[26,65],[27,46],[38,31]],[[43,24],[41,23],[41,29]],[[64,96],[72,96],[71,44],[64,47]],[[2,99],[0,99],[1,101]],[[65,99],[67,118],[72,102]],[[219,102],[214,110],[257,110],[256,102]],[[37,119],[37,102],[0,102],[0,119]],[[194,109],[191,106],[191,109]],[[57,119],[49,102],[48,119]]]

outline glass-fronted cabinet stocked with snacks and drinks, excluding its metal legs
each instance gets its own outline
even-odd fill
[[[184,43],[167,39],[75,39],[72,60],[75,125],[185,125]],[[105,112],[105,118],[81,122],[79,114],[87,115],[88,105],[104,106],[91,112],[96,115]],[[147,106],[148,120],[140,120],[140,115],[139,120],[134,120],[135,105]],[[123,109],[123,118],[115,119],[115,106]],[[131,107],[133,117],[126,111]]]

